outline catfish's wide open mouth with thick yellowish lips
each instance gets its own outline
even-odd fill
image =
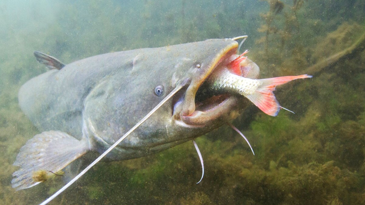
[[[233,111],[237,110],[238,102],[239,108],[245,106],[241,105],[243,96],[213,88],[214,78],[219,78],[222,70],[227,69],[232,74],[251,79],[256,79],[260,72],[259,67],[244,56],[247,50],[237,55],[238,43],[234,39],[226,40],[232,42],[219,53],[212,54],[210,61],[196,71],[186,90],[180,90],[181,93],[175,97],[178,100],[173,102],[173,115],[185,125],[204,126],[216,120],[230,120],[237,117]]]

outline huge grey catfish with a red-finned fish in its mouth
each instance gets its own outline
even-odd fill
[[[40,171],[58,173],[89,152],[103,155],[115,147],[106,160],[125,160],[193,140],[243,112],[248,101],[242,96],[264,112],[270,107],[265,113],[277,113],[280,107],[270,92],[304,77],[255,80],[258,66],[236,55],[237,49],[234,39],[209,39],[67,65],[36,51],[50,70],[20,88],[19,105],[42,133],[20,149],[12,187],[35,186],[42,181],[34,179]],[[261,95],[266,88],[269,94]],[[276,104],[268,104],[265,95]]]

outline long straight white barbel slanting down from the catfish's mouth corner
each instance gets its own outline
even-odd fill
[[[61,194],[64,190],[66,190],[69,186],[71,186],[77,179],[79,179],[82,175],[84,175],[91,167],[93,167],[96,163],[98,163],[101,159],[104,158],[110,151],[112,151],[120,142],[122,142],[129,134],[131,134],[137,127],[139,127],[142,123],[144,123],[154,112],[157,111],[165,102],[167,102],[174,94],[176,94],[181,88],[183,88],[188,82],[188,79],[185,79],[180,85],[178,85],[175,89],[173,89],[160,103],[156,105],[145,117],[142,118],[134,127],[132,127],[126,134],[124,134],[118,141],[116,141],[112,146],[110,146],[103,154],[101,154],[98,158],[96,158],[89,166],[87,166],[84,170],[80,172],[76,177],[74,177],[71,181],[66,183],[61,189],[59,189],[52,196],[47,198],[39,205],[46,205],[50,201],[52,201],[55,197]]]

